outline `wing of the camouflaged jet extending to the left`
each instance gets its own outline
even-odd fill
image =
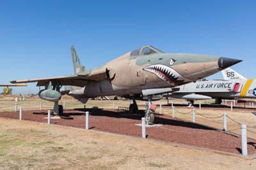
[[[63,85],[63,86],[79,86],[84,87],[90,81],[102,81],[107,79],[106,71],[102,72],[88,72],[83,75],[68,75],[61,77],[47,77],[47,78],[39,78],[39,79],[26,79],[19,81],[11,81],[11,83],[28,83],[28,82],[37,82],[36,86],[46,86],[49,81],[51,81],[52,86],[54,85]]]

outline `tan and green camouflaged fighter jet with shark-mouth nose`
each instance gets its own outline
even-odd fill
[[[143,95],[148,95],[149,106],[154,94],[168,93],[175,86],[202,79],[241,61],[204,54],[164,53],[152,46],[144,46],[127,52],[106,65],[86,70],[73,46],[71,51],[74,75],[12,83],[37,82],[36,86],[45,86],[38,95],[42,99],[55,102],[54,105],[58,105],[63,94],[77,98],[83,104],[92,97],[131,97],[133,104],[129,110],[137,112],[135,100],[140,100]],[[68,90],[60,91],[61,86],[68,86]],[[147,111],[145,116],[148,120],[154,120],[153,114]]]

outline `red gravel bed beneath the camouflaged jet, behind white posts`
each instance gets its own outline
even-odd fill
[[[89,128],[116,134],[141,136],[140,114],[127,114],[104,109],[86,109],[90,112]],[[23,120],[47,123],[46,111],[24,111]],[[66,110],[65,115],[72,119],[52,119],[51,123],[70,127],[85,128],[83,109]],[[19,119],[19,112],[1,112],[1,117]],[[168,115],[155,114],[155,122],[161,127],[147,128],[147,138],[166,142],[188,144],[230,153],[241,153],[241,136],[226,134],[221,130],[198,125],[189,121],[173,119]],[[256,153],[256,140],[248,138],[248,154]]]

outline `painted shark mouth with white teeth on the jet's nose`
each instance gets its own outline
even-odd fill
[[[180,75],[180,73],[173,70],[173,68],[170,68],[166,65],[150,65],[143,68],[143,70],[154,73],[155,75],[157,75],[157,77],[165,82],[168,82],[169,84],[173,84],[173,82],[177,84],[182,84],[183,82],[190,81],[189,79]]]

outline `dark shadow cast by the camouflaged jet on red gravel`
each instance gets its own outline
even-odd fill
[[[84,109],[75,109],[77,111],[84,111]],[[144,116],[144,111],[138,111],[138,114],[129,114],[127,112],[115,112],[115,111],[106,111],[103,109],[86,109],[86,111],[90,112],[92,116],[107,116],[111,118],[127,118],[131,120],[141,120]],[[72,116],[72,114],[69,114]],[[173,120],[170,116],[166,116],[163,114],[155,114],[155,123],[156,124],[163,124],[163,125],[172,125],[172,126],[179,126],[179,127],[188,127],[188,128],[198,128],[203,130],[217,130],[216,128],[207,127],[204,125],[198,125],[196,123],[191,123],[188,121],[182,120]]]

